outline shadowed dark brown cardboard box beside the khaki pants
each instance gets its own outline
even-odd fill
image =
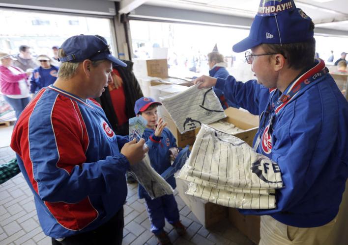
[[[260,241],[260,216],[242,215],[235,208],[229,208],[229,220],[241,233],[255,244]]]

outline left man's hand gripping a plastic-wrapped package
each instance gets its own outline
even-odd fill
[[[145,140],[140,139],[137,143],[136,139],[124,144],[121,154],[125,155],[131,165],[140,162],[144,157],[148,148],[144,145]]]

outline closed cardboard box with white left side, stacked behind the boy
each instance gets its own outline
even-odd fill
[[[136,76],[168,77],[167,59],[134,59],[133,72]]]

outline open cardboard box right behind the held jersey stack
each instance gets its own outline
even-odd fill
[[[227,117],[222,120],[233,123],[236,127],[244,130],[243,132],[234,134],[234,136],[245,141],[249,146],[252,146],[259,127],[259,117],[233,107],[227,108],[225,114]],[[198,134],[200,129],[195,129],[195,135]]]

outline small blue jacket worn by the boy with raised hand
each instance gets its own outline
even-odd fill
[[[155,130],[145,128],[143,138],[148,146],[148,156],[151,161],[151,167],[159,174],[165,172],[171,167],[170,148],[176,147],[176,139],[168,128],[164,128],[161,137],[154,136]],[[176,187],[174,176],[167,179],[167,182],[173,189]],[[142,185],[138,186],[139,198],[148,196]]]

